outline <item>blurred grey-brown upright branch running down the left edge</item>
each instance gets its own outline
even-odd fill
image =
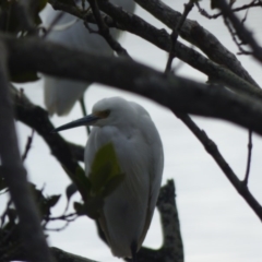
[[[0,43],[0,156],[2,172],[9,187],[12,201],[20,219],[23,245],[29,253],[29,260],[51,262],[51,254],[40,228],[39,214],[26,180],[17,147],[17,139],[13,122],[13,110],[9,93],[5,62],[8,53]]]

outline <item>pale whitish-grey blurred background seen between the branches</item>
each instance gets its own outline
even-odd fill
[[[182,12],[186,1],[164,1],[172,9]],[[238,0],[241,5],[249,1]],[[210,1],[202,0],[202,8],[210,10]],[[214,11],[215,12],[215,11]],[[213,12],[213,13],[214,13]],[[146,11],[136,7],[135,13],[157,28],[166,28]],[[243,15],[245,13],[240,13]],[[236,53],[237,47],[227,32],[222,19],[207,20],[194,8],[188,19],[198,21],[203,27],[216,35],[221,43]],[[249,10],[246,24],[252,29],[257,39],[262,43],[261,9]],[[179,38],[179,40],[182,40]],[[123,34],[121,45],[136,61],[164,71],[167,53],[157,47],[131,34]],[[252,58],[239,56],[238,59],[260,84],[261,66]],[[175,59],[172,67],[178,67],[176,73],[184,78],[205,82],[206,76],[189,66]],[[43,81],[23,87],[25,94],[44,107]],[[262,258],[262,225],[252,210],[235,191],[219,167],[205,152],[199,141],[168,109],[127,92],[112,87],[93,84],[85,93],[87,110],[99,99],[110,96],[122,96],[143,105],[154,120],[164,144],[165,169],[163,184],[167,179],[175,179],[177,205],[179,211],[181,234],[184,246],[186,261],[190,262],[259,262]],[[67,117],[52,116],[56,127],[82,117],[79,103]],[[199,127],[218,145],[223,156],[239,176],[245,177],[247,165],[248,131],[231,123],[200,117],[193,117]],[[20,147],[24,151],[27,136],[32,130],[21,122],[16,123]],[[85,128],[61,132],[68,141],[85,146],[87,135]],[[257,200],[262,203],[262,140],[253,135],[253,150],[249,188]],[[53,215],[60,215],[66,206],[64,190],[70,183],[62,167],[52,157],[43,139],[35,133],[32,148],[25,160],[31,181],[38,188],[45,187],[46,194],[63,193]],[[74,200],[80,200],[79,195]],[[63,224],[49,224],[50,228],[59,228]],[[61,231],[49,231],[50,246],[63,249],[97,261],[118,261],[109,248],[98,238],[92,219],[80,217]],[[151,228],[143,246],[157,249],[162,245],[162,229],[158,213],[155,212]]]

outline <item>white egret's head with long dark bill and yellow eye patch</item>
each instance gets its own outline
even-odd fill
[[[121,122],[130,122],[133,118],[132,112],[133,108],[126,99],[121,97],[104,98],[94,105],[91,115],[70,123],[66,123],[55,129],[53,132],[81,126],[104,127],[120,124]]]

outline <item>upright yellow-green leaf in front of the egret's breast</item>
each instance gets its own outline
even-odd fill
[[[103,192],[111,192],[110,189],[115,188],[112,187],[112,179],[115,179],[115,181],[122,181],[122,178],[115,178],[120,174],[121,170],[114,145],[112,143],[108,143],[99,148],[92,163],[91,174],[88,176],[92,184],[91,195],[102,195],[104,194]],[[109,181],[111,181],[110,189],[106,189]]]

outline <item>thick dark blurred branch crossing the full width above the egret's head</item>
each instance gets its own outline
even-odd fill
[[[205,85],[171,74],[166,76],[123,58],[91,55],[34,38],[3,39],[10,51],[12,72],[37,70],[56,76],[102,83],[140,94],[176,111],[229,120],[262,134],[259,99],[238,96],[219,85]]]

